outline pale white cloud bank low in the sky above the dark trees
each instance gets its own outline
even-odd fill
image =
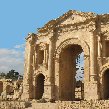
[[[9,72],[11,69],[20,74],[24,71],[24,51],[16,49],[0,49],[0,72]]]

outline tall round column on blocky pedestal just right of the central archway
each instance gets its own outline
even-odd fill
[[[85,99],[96,100],[98,96],[98,82],[97,82],[97,49],[96,49],[96,34],[90,35],[90,81],[85,83]]]

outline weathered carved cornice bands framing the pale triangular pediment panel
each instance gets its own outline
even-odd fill
[[[79,21],[79,22],[74,22],[73,24],[61,24],[61,22],[67,20],[67,18],[69,18],[72,15],[81,16],[81,17],[85,18],[85,20]],[[98,21],[98,19],[99,19],[99,21]],[[74,30],[84,29],[85,26],[84,27],[82,27],[82,26],[87,23],[90,23],[91,21],[95,22],[95,26],[96,25],[98,26],[98,23],[100,23],[101,25],[104,25],[107,22],[109,22],[109,14],[98,15],[98,14],[91,13],[91,12],[79,12],[79,11],[75,11],[75,10],[69,10],[62,16],[58,17],[57,19],[49,21],[47,24],[44,25],[44,27],[39,28],[37,37],[47,36],[48,34],[51,34],[52,32],[54,32],[54,29],[56,29],[56,28],[68,28],[68,27],[73,26],[72,29],[74,28]],[[96,21],[97,21],[97,24],[96,24]],[[91,26],[91,24],[92,23],[90,23],[89,25]],[[80,28],[80,26],[81,26],[81,28]],[[34,33],[32,33],[32,34],[34,34]],[[28,40],[30,37],[31,37],[31,35],[29,35],[26,38],[26,40]]]

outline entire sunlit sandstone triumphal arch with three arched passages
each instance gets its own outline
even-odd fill
[[[22,99],[75,100],[84,52],[83,99],[109,98],[109,15],[68,11],[28,34]]]

